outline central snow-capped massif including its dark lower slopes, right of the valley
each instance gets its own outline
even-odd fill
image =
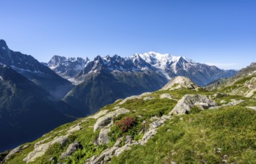
[[[68,78],[78,85],[63,98],[63,101],[75,105],[84,114],[96,113],[100,107],[113,103],[118,98],[160,89],[178,75],[190,78],[199,86],[205,86],[207,83],[236,73],[234,70],[222,70],[216,66],[195,63],[185,57],[153,51],[134,54],[132,57],[97,56],[93,61],[88,59],[86,61],[81,72]],[[48,63],[53,70],[60,70],[63,65],[66,65],[65,57],[54,56]],[[80,66],[69,64],[69,70],[74,72],[77,68],[81,68]],[[62,74],[58,71],[57,73]]]

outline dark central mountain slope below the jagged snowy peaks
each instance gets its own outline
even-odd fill
[[[109,60],[125,59],[114,56],[109,57]],[[93,62],[88,63],[77,80],[84,82],[75,86],[63,101],[75,105],[84,114],[96,113],[100,107],[113,103],[118,98],[160,89],[167,82],[166,78],[151,69],[134,71],[134,66],[119,63],[110,67],[102,57],[96,57]]]

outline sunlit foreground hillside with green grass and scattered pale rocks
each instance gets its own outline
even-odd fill
[[[4,163],[255,163],[256,99],[191,86],[178,77],[116,101],[13,149]]]

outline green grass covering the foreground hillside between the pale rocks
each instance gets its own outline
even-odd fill
[[[84,163],[93,155],[99,155],[106,148],[113,146],[116,139],[120,137],[123,137],[121,145],[124,144],[127,135],[132,136],[134,140],[139,140],[143,137],[140,131],[148,128],[152,116],[166,115],[177,104],[177,101],[172,99],[160,99],[163,93],[168,93],[172,98],[179,100],[186,94],[212,97],[216,92],[207,92],[205,89],[159,90],[152,93],[155,98],[152,100],[132,99],[122,105],[117,101],[103,107],[102,110],[112,111],[113,107],[124,107],[130,110],[130,113],[117,116],[114,122],[129,116],[134,119],[134,123],[125,132],[113,125],[109,133],[109,144],[93,144],[99,136],[99,130],[93,132],[96,119],[87,119],[82,123],[83,119],[78,119],[57,127],[34,142],[27,143],[30,146],[15,154],[8,163],[24,163],[22,160],[34,150],[36,142],[43,139],[46,139],[44,142],[49,142],[56,136],[65,135],[69,127],[78,123],[81,123],[82,129],[69,136],[68,144],[63,147],[59,144],[51,145],[46,154],[34,163]],[[113,157],[111,163],[222,163],[222,160],[226,160],[225,155],[228,156],[228,163],[255,163],[256,113],[246,108],[246,106],[256,106],[255,98],[245,98],[241,95],[223,95],[214,98],[218,104],[221,104],[222,100],[228,103],[231,99],[244,101],[236,107],[222,107],[218,110],[199,110],[195,107],[188,115],[175,116],[160,127],[157,134],[149,139],[146,145],[134,145],[130,151],[125,151],[119,157]],[[143,121],[146,123],[143,124]],[[70,157],[61,159],[61,154],[74,141],[78,141],[82,148]]]

